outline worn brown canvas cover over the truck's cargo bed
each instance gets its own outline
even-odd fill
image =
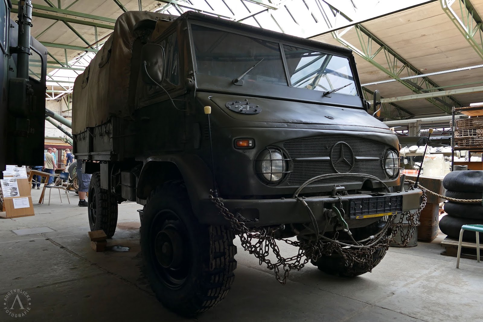
[[[114,31],[75,82],[72,93],[72,133],[105,123],[110,117],[127,117],[134,109],[130,91],[133,44],[168,28],[175,16],[148,11],[129,11],[117,18]],[[138,50],[141,46],[137,47]],[[139,57],[135,56],[135,57]],[[140,62],[134,61],[137,66]],[[132,70],[137,79],[139,68]],[[135,73],[135,74],[134,74]]]

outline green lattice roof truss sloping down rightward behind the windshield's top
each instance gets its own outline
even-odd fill
[[[349,17],[341,13],[338,9],[331,7],[332,14],[335,16],[336,14],[342,15],[345,19],[351,21]],[[331,27],[331,26],[329,26]],[[355,29],[355,33],[357,35],[359,41],[359,47],[355,46],[354,44],[349,43],[342,36],[349,30]],[[396,79],[399,83],[406,86],[407,88],[411,89],[412,92],[416,94],[424,93],[427,91],[438,91],[440,86],[433,82],[428,77],[420,77],[414,79],[407,79],[402,80],[400,77],[406,76],[414,76],[419,75],[421,72],[414,67],[411,63],[407,60],[403,59],[401,56],[398,55],[393,49],[391,49],[388,45],[384,44],[379,38],[377,38],[374,34],[372,34],[368,29],[363,27],[360,24],[348,27],[343,30],[336,30],[331,32],[332,37],[336,39],[339,43],[344,45],[345,47],[351,49],[355,54],[359,55],[361,58],[368,61],[373,66],[377,67],[379,70],[383,71],[388,76]],[[384,55],[385,63],[384,65],[379,63],[376,60],[377,55]],[[379,56],[378,56],[379,57]],[[451,96],[443,96],[443,97],[431,97],[426,98],[428,102],[433,104],[434,106],[440,108],[443,112],[447,114],[451,114],[452,107],[460,107],[463,104],[457,101],[455,98]]]

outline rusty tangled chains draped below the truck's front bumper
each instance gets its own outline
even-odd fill
[[[275,238],[274,233],[279,229],[284,229],[284,225],[248,228],[245,222],[254,222],[253,220],[246,220],[239,214],[231,213],[220,198],[213,196],[213,191],[210,191],[209,197],[225,219],[228,220],[230,228],[235,234],[239,235],[241,247],[250,254],[253,254],[258,259],[259,265],[265,263],[268,269],[273,270],[275,279],[281,284],[287,282],[291,270],[296,269],[299,271],[310,260],[317,261],[321,256],[330,256],[334,252],[342,256],[346,266],[354,267],[358,265],[359,270],[362,268],[370,272],[373,268],[372,255],[378,249],[384,248],[387,250],[391,244],[402,247],[407,246],[414,234],[414,230],[419,225],[421,210],[426,206],[426,194],[423,191],[422,203],[413,213],[410,211],[403,212],[398,222],[395,222],[397,215],[392,215],[387,219],[381,231],[371,236],[372,238],[367,238],[364,243],[361,242],[358,245],[348,245],[345,242],[337,240],[338,233],[335,234],[334,239],[322,235],[317,241],[311,239],[294,241],[286,238]],[[406,232],[402,229],[403,226],[408,226]],[[398,234],[401,242],[396,241],[394,238]],[[374,239],[376,240],[373,241]],[[276,240],[284,241],[289,245],[297,247],[297,255],[288,258],[282,256]],[[212,245],[211,248],[213,248]],[[275,255],[277,262],[273,263],[268,258],[270,251]],[[211,262],[213,262],[213,257],[211,258]],[[212,265],[210,263],[210,267]],[[281,271],[283,271],[282,276]]]

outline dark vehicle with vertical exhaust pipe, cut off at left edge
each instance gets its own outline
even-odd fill
[[[30,36],[32,3],[0,3],[0,178],[6,164],[42,165],[47,49]]]

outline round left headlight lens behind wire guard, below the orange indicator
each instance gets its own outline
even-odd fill
[[[258,158],[258,172],[268,183],[277,183],[287,173],[288,163],[284,160],[282,151],[267,148]]]

